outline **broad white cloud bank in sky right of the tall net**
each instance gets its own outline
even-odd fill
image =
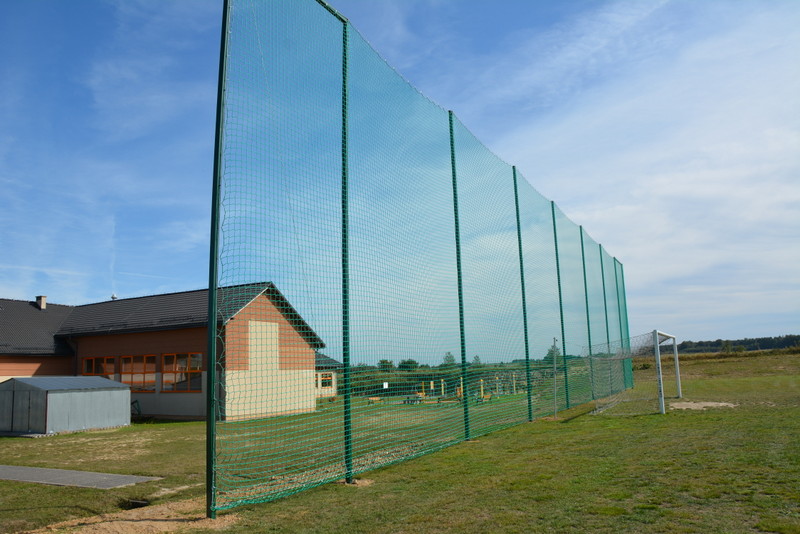
[[[620,257],[632,332],[796,330],[800,33],[788,7],[731,15],[495,143]],[[748,331],[768,314],[782,317],[773,331]]]

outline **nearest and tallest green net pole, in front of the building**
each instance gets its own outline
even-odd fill
[[[222,187],[222,141],[225,116],[225,77],[228,55],[229,3],[222,4],[219,74],[217,78],[217,117],[214,133],[214,175],[211,189],[211,240],[208,261],[208,326],[206,349],[206,516],[215,519],[216,510],[216,440],[217,440],[217,256],[219,253],[219,203]]]

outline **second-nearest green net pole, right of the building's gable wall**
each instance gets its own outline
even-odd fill
[[[345,482],[353,482],[353,428],[350,384],[350,241],[348,213],[348,128],[347,58],[349,32],[342,21],[342,387],[344,388],[344,468]]]

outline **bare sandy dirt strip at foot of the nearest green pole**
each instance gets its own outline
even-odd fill
[[[136,508],[125,512],[72,519],[32,532],[80,532],[83,534],[149,534],[153,532],[189,532],[198,529],[222,530],[238,520],[233,513],[217,519],[205,516],[202,498]]]

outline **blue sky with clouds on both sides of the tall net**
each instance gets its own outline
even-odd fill
[[[800,3],[331,0],[625,266],[631,333],[800,327]],[[221,1],[0,3],[0,296],[207,283]]]

